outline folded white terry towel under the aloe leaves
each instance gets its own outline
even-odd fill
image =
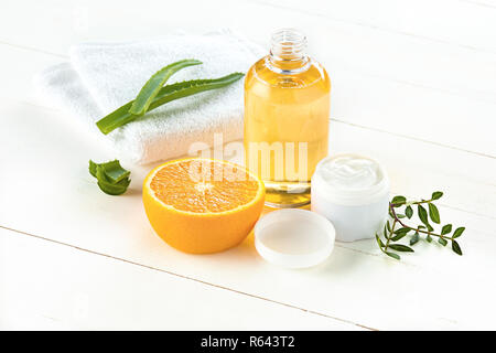
[[[104,136],[95,122],[133,99],[158,69],[183,58],[202,65],[174,74],[168,84],[246,73],[263,54],[256,44],[228,30],[205,35],[173,34],[127,43],[84,43],[69,61],[34,79],[42,103],[74,115],[107,139],[116,158],[148,163],[186,154],[193,142],[224,142],[242,137],[242,78],[227,87],[181,98]]]

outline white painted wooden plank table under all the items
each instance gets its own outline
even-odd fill
[[[101,193],[87,161],[111,153],[35,101],[32,75],[72,43],[219,25],[266,46],[305,31],[333,81],[331,152],[382,161],[395,193],[444,191],[464,256],[422,243],[398,263],[363,240],[284,270],[252,236],[185,255],[145,218],[150,165]],[[495,0],[4,0],[0,60],[0,329],[496,329]]]

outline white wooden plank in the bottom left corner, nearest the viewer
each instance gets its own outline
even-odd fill
[[[2,330],[363,330],[2,228],[0,288]]]

